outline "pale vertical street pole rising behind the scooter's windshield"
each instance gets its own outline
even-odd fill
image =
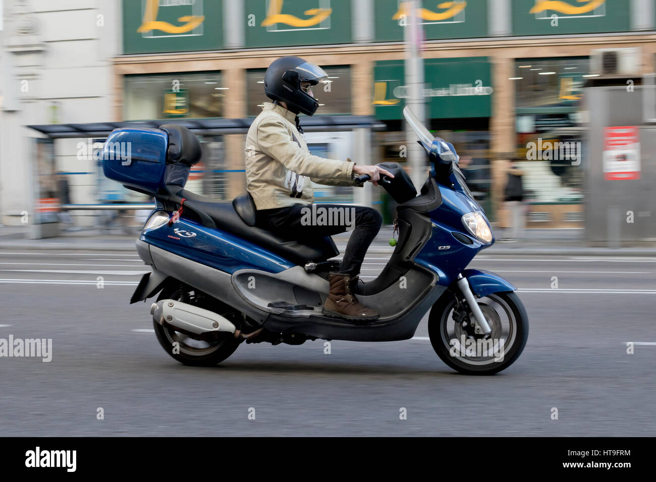
[[[420,122],[425,121],[424,98],[424,59],[421,56],[421,43],[423,41],[422,26],[420,24],[420,0],[406,0],[405,18],[406,26],[403,29],[405,39],[405,85],[407,87],[405,105],[408,106]],[[426,153],[417,143],[417,135],[407,122],[405,122],[405,142],[407,159],[410,167],[410,178],[417,192],[424,184],[426,177]]]

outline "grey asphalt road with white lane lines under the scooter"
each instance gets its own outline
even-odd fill
[[[243,344],[185,367],[157,343],[150,301],[129,304],[136,254],[2,251],[0,338],[51,338],[52,361],[0,357],[0,436],[655,434],[656,258],[483,252],[470,266],[520,287],[529,313],[522,356],[495,376],[445,366],[426,317],[413,340]]]

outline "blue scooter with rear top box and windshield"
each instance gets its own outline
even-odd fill
[[[398,203],[399,235],[380,275],[356,287],[361,304],[380,313],[365,323],[321,313],[328,273],[339,265],[331,260],[339,252],[330,237],[296,239],[258,228],[249,194],[222,203],[184,190],[202,156],[188,129],[162,125],[110,134],[104,174],[155,198],[136,241],[152,272],[131,303],[159,293],[150,312],[169,355],[186,365],[216,365],[243,342],[407,340],[430,310],[430,342],[449,367],[493,374],[519,357],[528,317],[516,288],[489,271],[465,269],[494,237],[455,149],[408,108],[403,115],[428,154],[430,174],[417,195],[398,163],[381,164],[394,174],[382,186]]]

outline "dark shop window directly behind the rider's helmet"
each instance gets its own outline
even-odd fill
[[[315,115],[351,113],[351,74],[348,66],[323,67],[328,79],[312,87],[312,93],[319,101]],[[264,72],[266,69],[253,69],[246,73],[247,102],[249,116],[262,111],[264,102],[271,100],[264,94]]]

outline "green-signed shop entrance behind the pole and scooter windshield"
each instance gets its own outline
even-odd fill
[[[374,67],[375,115],[388,125],[376,134],[376,155],[388,162],[405,162],[403,107],[407,98],[403,60],[379,61]],[[491,206],[489,118],[492,115],[493,86],[487,57],[424,59],[426,126],[438,137],[453,143],[460,155],[460,167],[470,189],[495,219]],[[384,206],[386,200],[381,199]],[[390,211],[384,208],[383,212]]]

